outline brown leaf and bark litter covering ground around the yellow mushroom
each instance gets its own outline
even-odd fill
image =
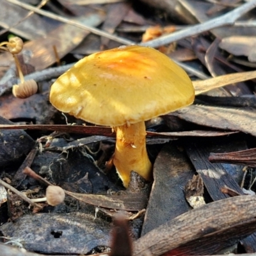
[[[58,1],[57,7],[46,3],[45,11],[16,0],[3,1],[3,4],[9,4],[8,10],[22,15],[13,21],[6,19],[5,23],[1,20],[0,26],[30,40],[26,42],[23,65],[31,65],[42,72],[25,74],[25,79],[30,76],[39,84],[38,92],[28,99],[17,99],[10,93],[12,85],[19,83],[12,56],[8,52],[1,54],[1,65],[10,67],[10,71],[0,81],[0,115],[13,122],[1,118],[1,179],[17,188],[18,196],[20,191],[35,187],[39,195],[33,192],[31,195],[43,196],[45,183],[35,179],[35,175],[31,177],[23,173],[30,166],[36,175],[61,185],[70,196],[56,207],[41,204],[31,208],[15,197],[15,193],[7,196],[9,215],[6,207],[2,207],[1,214],[20,224],[17,228],[13,222],[5,223],[0,227],[1,232],[4,236],[19,237],[23,248],[40,255],[98,252],[108,255],[146,255],[147,252],[154,255],[206,255],[219,253],[230,244],[235,245],[233,252],[239,253],[238,243],[243,245],[245,252],[256,252],[253,234],[255,196],[244,195],[239,187],[243,166],[251,164],[255,167],[253,79],[256,73],[250,69],[248,61],[242,60],[238,65],[237,60],[229,55],[243,54],[253,61],[253,50],[243,38],[255,34],[255,26],[249,20],[253,17],[250,11],[256,2],[173,1],[166,4],[166,1],[143,0],[138,6],[117,2]],[[33,13],[23,19],[28,10]],[[168,16],[170,13],[186,25],[173,23]],[[111,19],[113,16],[115,19]],[[29,29],[22,28],[29,19],[36,22],[30,22]],[[55,21],[49,22],[49,19]],[[22,20],[19,26],[14,26],[19,20]],[[227,25],[230,29],[225,27]],[[147,32],[150,36],[157,26],[174,26],[175,29],[164,30],[164,35],[159,33],[153,36],[154,39],[141,42],[142,33]],[[148,29],[150,27],[155,30]],[[86,40],[92,33],[96,36],[92,37],[92,44],[87,44]],[[71,116],[63,116],[47,100],[51,79],[70,68],[61,61],[73,63],[84,56],[83,52],[92,53],[122,44],[156,47],[178,63],[184,61],[180,65],[191,75],[195,88],[195,104],[163,116],[163,123],[147,127],[148,152],[154,162],[150,195],[148,186],[152,184],[145,185],[140,178],[132,181],[130,192],[129,189],[124,191],[111,163],[115,145],[111,128],[91,126]],[[54,52],[53,45],[57,52]],[[86,45],[86,48],[81,45]],[[76,47],[81,48],[76,50]],[[180,58],[177,52],[187,54]],[[51,67],[54,63],[61,66]],[[51,134],[49,131],[58,132]],[[31,141],[25,143],[27,148],[24,139]],[[237,141],[241,141],[243,147]],[[209,147],[212,143],[214,147]],[[213,156],[220,156],[218,161],[222,164],[210,163]],[[186,201],[184,188],[194,174],[204,182],[207,193],[201,191],[200,196],[204,196],[207,204],[192,210]],[[236,190],[239,196],[228,198],[221,192],[224,185]],[[31,195],[28,193],[29,197]],[[19,207],[22,207],[22,214]],[[122,230],[122,236],[117,238],[115,231],[110,232],[109,217],[115,220],[116,212],[120,210],[126,214],[120,219],[116,217],[115,225]],[[82,216],[87,221],[85,225],[81,222]],[[129,230],[124,218],[130,220]],[[39,228],[35,228],[35,221]],[[218,227],[214,226],[216,223]],[[77,228],[81,230],[77,231]],[[132,242],[125,238],[129,234],[134,239],[133,252]],[[47,244],[38,243],[39,240],[47,241]],[[6,248],[3,243],[0,247],[2,252],[5,250],[4,255],[17,255],[15,248]],[[125,252],[118,244],[123,244],[121,247],[126,248]],[[109,246],[112,252],[109,252]],[[24,255],[37,254],[26,252]]]

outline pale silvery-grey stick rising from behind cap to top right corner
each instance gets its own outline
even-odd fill
[[[185,0],[182,1],[182,4],[186,3]],[[182,38],[186,38],[189,36],[195,36],[205,31],[209,31],[214,28],[220,28],[223,26],[231,26],[235,23],[235,21],[244,15],[245,13],[249,12],[253,8],[256,7],[256,0],[252,0],[248,3],[244,3],[241,6],[237,7],[236,9],[216,17],[214,19],[210,19],[205,21],[202,24],[196,24],[195,26],[191,26],[190,28],[182,29],[180,31],[174,32],[170,35],[161,36],[157,39],[141,43],[142,46],[150,46],[150,47],[159,47],[164,44],[170,44]]]

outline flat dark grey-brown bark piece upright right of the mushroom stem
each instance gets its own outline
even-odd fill
[[[191,209],[182,188],[195,171],[184,152],[173,145],[165,145],[157,156],[153,173],[154,183],[141,236]]]

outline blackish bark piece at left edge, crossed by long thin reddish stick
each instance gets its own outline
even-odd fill
[[[0,124],[13,123],[0,116]],[[34,147],[35,141],[23,130],[0,129],[0,166],[20,161]]]

